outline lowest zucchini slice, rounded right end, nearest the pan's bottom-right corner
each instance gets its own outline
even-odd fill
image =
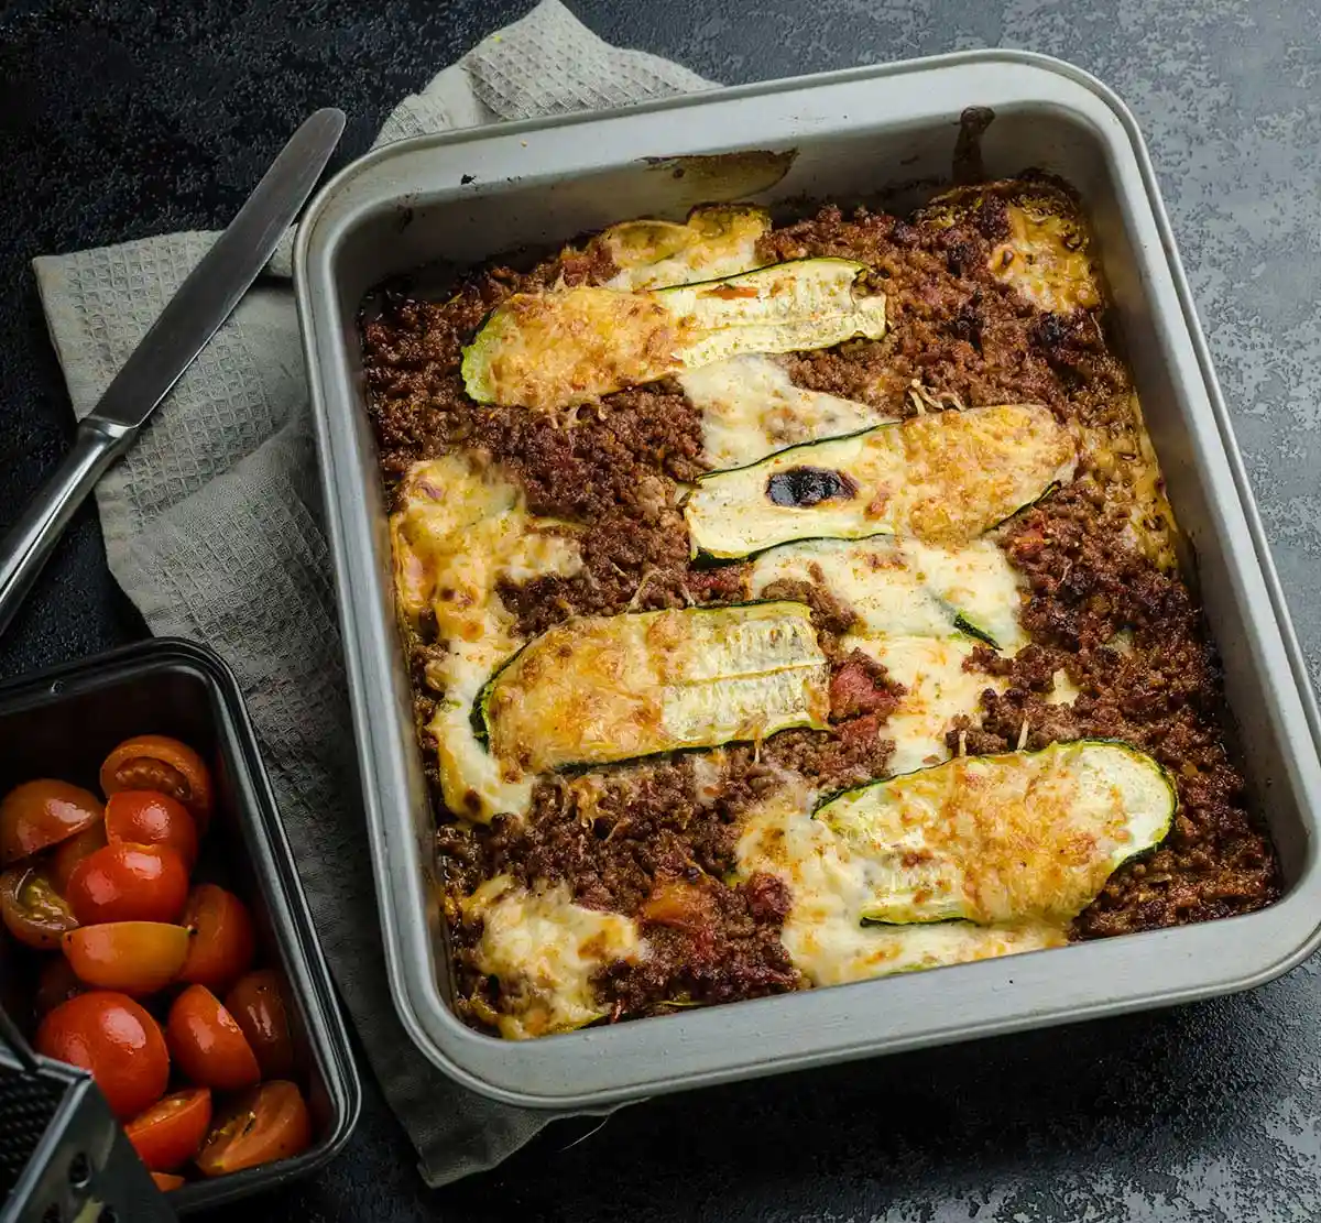
[[[1165,839],[1177,803],[1145,753],[1077,740],[959,757],[848,790],[814,815],[868,862],[860,921],[992,926],[1071,921]]]

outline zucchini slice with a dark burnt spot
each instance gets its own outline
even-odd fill
[[[699,561],[795,539],[902,535],[952,547],[1073,479],[1077,458],[1049,408],[935,412],[703,475],[684,518]]]

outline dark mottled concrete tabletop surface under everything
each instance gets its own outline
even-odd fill
[[[1321,672],[1321,15],[1267,0],[569,0],[604,37],[756,81],[1007,45],[1136,111],[1304,648]],[[299,119],[337,165],[523,0],[0,3],[0,523],[70,435],[29,260],[229,219]],[[0,639],[0,678],[143,633],[86,507]],[[266,1219],[1196,1223],[1321,1216],[1313,960],[1235,998],[676,1096],[424,1190],[367,1082],[321,1177]]]

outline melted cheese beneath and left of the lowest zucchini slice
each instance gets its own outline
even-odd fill
[[[777,791],[746,818],[736,855],[741,876],[765,870],[789,885],[793,907],[781,940],[814,985],[1065,944],[1065,932],[1052,922],[861,925],[859,914],[876,893],[877,866],[845,837],[814,820],[811,806],[812,795],[804,786]]]

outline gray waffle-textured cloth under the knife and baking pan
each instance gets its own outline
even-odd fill
[[[557,0],[543,0],[404,99],[378,144],[708,85],[664,59],[608,46]],[[170,234],[34,262],[79,417],[214,236]],[[555,1115],[460,1088],[417,1053],[395,1016],[349,765],[288,240],[268,271],[98,485],[106,553],[152,633],[203,641],[238,674],[321,946],[423,1177],[441,1185],[494,1166]]]

